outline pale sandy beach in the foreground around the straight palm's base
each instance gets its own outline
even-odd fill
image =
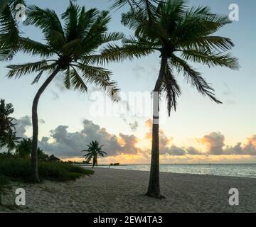
[[[15,190],[26,189],[26,206],[14,212],[256,212],[256,179],[161,172],[166,199],[144,196],[149,172],[96,168],[75,182],[13,183],[3,204],[14,204]],[[239,206],[228,203],[239,190]],[[0,206],[0,211],[9,211]]]

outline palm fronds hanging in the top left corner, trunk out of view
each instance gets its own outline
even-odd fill
[[[0,60],[10,60],[18,51],[20,31],[16,20],[16,6],[23,0],[1,0],[0,5]]]

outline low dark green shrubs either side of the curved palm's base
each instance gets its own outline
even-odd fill
[[[39,162],[38,173],[41,180],[68,181],[83,175],[91,175],[93,171],[64,162]],[[0,159],[0,175],[11,180],[30,182],[31,162],[30,160],[16,158]]]

